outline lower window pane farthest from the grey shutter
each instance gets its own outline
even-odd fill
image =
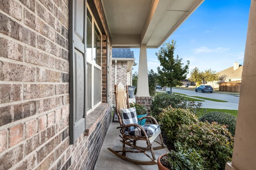
[[[94,67],[94,86],[93,86],[93,104],[97,104],[101,101],[101,70]]]

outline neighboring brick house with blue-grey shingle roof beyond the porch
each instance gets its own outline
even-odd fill
[[[112,49],[112,98],[114,98],[115,84],[122,82],[124,85],[132,86],[132,66],[134,63],[134,53],[130,48]],[[114,104],[112,100],[112,104]]]

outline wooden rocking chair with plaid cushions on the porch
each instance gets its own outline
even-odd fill
[[[164,149],[166,148],[166,146],[163,143],[160,126],[158,125],[156,119],[152,116],[145,116],[139,119],[136,118],[136,109],[134,107],[130,108],[129,106],[128,86],[126,86],[125,90],[124,85],[121,82],[119,82],[118,85],[115,85],[115,100],[116,114],[118,116],[118,121],[120,123],[120,127],[117,127],[117,129],[120,129],[121,135],[119,136],[122,138],[120,142],[123,143],[123,149],[114,150],[112,148],[108,148],[108,150],[110,150],[119,158],[122,158],[123,160],[126,160],[134,164],[157,164],[154,150]],[[141,122],[142,119],[149,119],[151,124],[139,125],[138,122]],[[132,121],[133,123],[129,123],[129,121]],[[160,142],[155,141],[155,139],[158,136],[160,137]],[[137,146],[136,142],[139,140],[146,141],[147,147]],[[160,146],[152,147],[153,142],[160,144]],[[126,145],[129,146],[128,149],[126,149]],[[150,150],[152,157],[146,153],[147,150]],[[144,153],[146,156],[148,156],[148,158],[150,158],[150,160],[142,161],[128,158],[126,156],[127,152]]]

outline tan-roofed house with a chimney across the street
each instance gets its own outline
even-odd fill
[[[219,82],[241,82],[242,71],[243,71],[243,66],[235,62],[234,66],[218,72],[218,74],[220,76],[224,76],[224,78],[220,81],[214,81],[213,82],[214,88],[219,87]],[[212,82],[207,82],[206,84],[212,86]]]

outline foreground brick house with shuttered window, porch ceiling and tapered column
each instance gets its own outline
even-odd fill
[[[0,169],[92,170],[112,120],[112,47],[140,48],[136,102],[150,113],[146,50],[203,1],[1,1]]]

